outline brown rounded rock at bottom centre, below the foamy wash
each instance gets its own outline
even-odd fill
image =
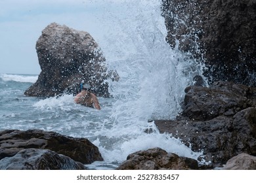
[[[151,148],[129,154],[119,170],[159,170],[159,169],[198,169],[198,161],[167,153],[161,148]]]

